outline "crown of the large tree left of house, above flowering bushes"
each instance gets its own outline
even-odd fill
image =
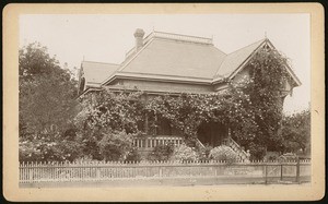
[[[20,49],[21,135],[63,131],[74,117],[77,82],[46,51],[36,43]]]

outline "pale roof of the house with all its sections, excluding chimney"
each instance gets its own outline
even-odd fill
[[[107,85],[115,79],[177,81],[179,83],[220,83],[238,73],[263,45],[265,38],[232,53],[215,48],[211,38],[153,32],[142,39],[141,48],[132,48],[121,64],[82,62],[86,84]],[[286,64],[286,70],[301,85]]]

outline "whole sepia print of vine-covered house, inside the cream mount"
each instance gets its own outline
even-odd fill
[[[312,188],[311,16],[20,14],[17,188]]]

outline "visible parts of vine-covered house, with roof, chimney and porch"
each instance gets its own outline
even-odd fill
[[[107,87],[116,91],[147,92],[149,96],[164,93],[215,93],[227,88],[226,79],[239,81],[248,74],[247,62],[261,48],[272,48],[268,38],[258,40],[232,53],[218,49],[211,38],[152,32],[144,37],[138,28],[136,45],[126,53],[120,64],[83,61],[80,69],[79,91],[81,95]],[[289,65],[285,67],[291,80],[285,83],[283,98],[301,82]],[[242,149],[230,137],[229,129],[220,124],[203,124],[199,128],[200,143],[213,146],[225,143]],[[165,122],[156,133],[162,140],[173,140],[175,130]],[[230,139],[230,142],[226,142]],[[137,141],[137,146],[153,147],[154,137]],[[178,139],[177,139],[178,141]],[[156,143],[157,144],[157,143]],[[242,151],[243,152],[243,151]]]

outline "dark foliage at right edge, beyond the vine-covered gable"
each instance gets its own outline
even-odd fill
[[[311,112],[304,110],[282,120],[283,152],[309,154],[311,152]]]

